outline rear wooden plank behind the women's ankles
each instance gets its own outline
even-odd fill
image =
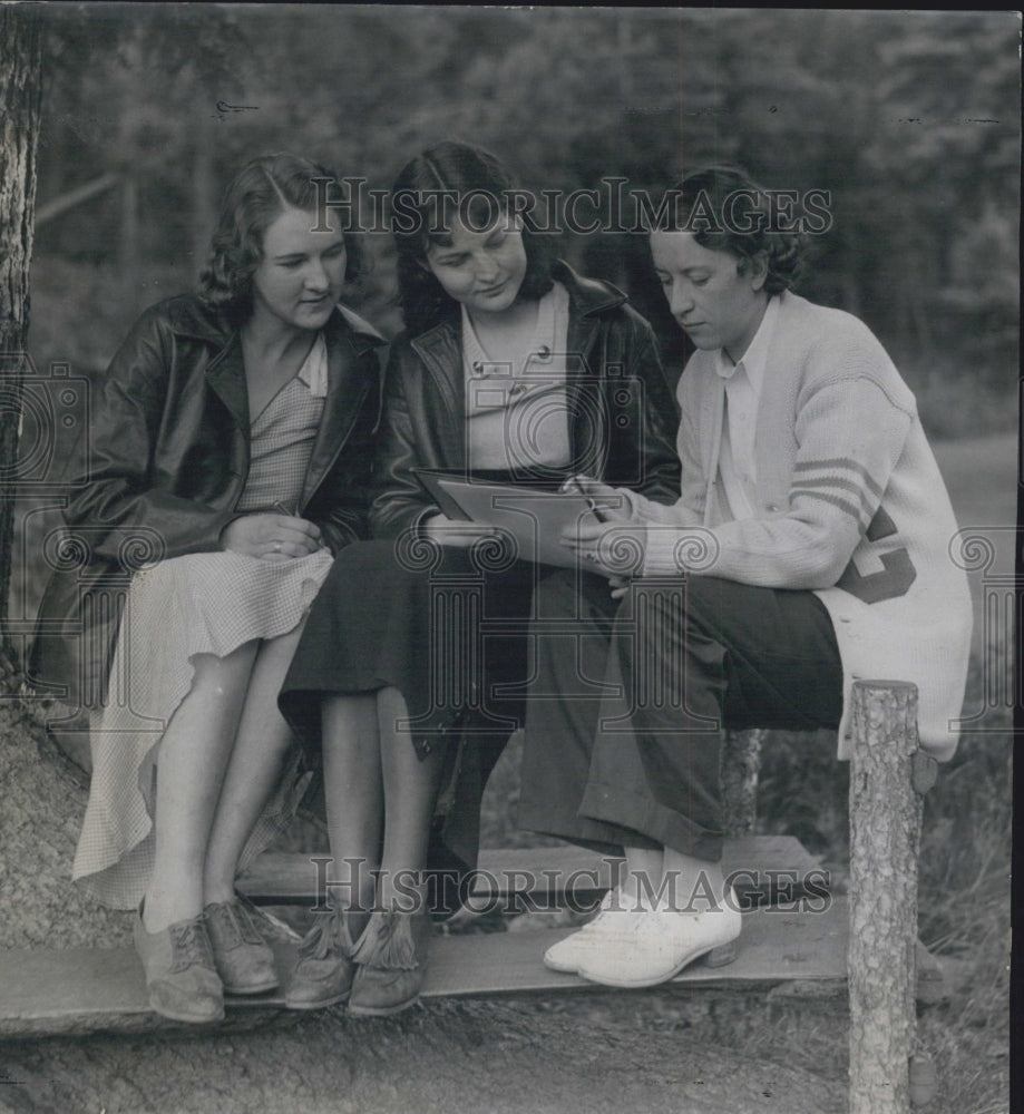
[[[260,905],[313,905],[316,900],[318,867],[321,854],[266,852],[240,877],[238,889]],[[537,847],[482,850],[474,876],[474,905],[516,895],[553,895],[570,890],[577,897],[606,890],[612,869],[620,859],[579,847]],[[726,840],[722,867],[735,873],[741,900],[760,893],[764,899],[787,898],[828,886],[817,860],[791,836],[758,836]]]

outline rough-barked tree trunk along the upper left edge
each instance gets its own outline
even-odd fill
[[[7,597],[14,539],[42,88],[42,32],[31,6],[0,6],[0,631],[2,648],[9,653]]]

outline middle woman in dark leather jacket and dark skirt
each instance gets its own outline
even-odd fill
[[[392,194],[407,332],[387,370],[371,528],[314,604],[281,707],[322,747],[333,874],[286,1003],[411,1005],[425,868],[475,866],[487,775],[521,716],[525,623],[552,570],[447,518],[416,469],[542,490],[586,473],[672,501],[675,413],[650,325],[615,287],[549,265],[486,152],[439,144]],[[451,873],[449,873],[449,878]]]

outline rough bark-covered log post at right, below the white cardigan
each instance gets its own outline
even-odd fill
[[[858,681],[850,770],[850,1114],[908,1114],[916,1030],[917,688]]]

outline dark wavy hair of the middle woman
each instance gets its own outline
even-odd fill
[[[427,266],[431,245],[451,245],[450,221],[464,197],[474,227],[485,227],[497,202],[507,213],[509,190],[517,189],[513,175],[491,154],[467,143],[445,140],[428,147],[407,163],[394,182],[391,202],[392,234],[398,250],[398,296],[406,328],[413,336],[445,321],[458,321],[459,303],[445,293]],[[438,190],[448,192],[441,196]],[[450,197],[457,202],[452,204]],[[478,224],[479,217],[479,224]],[[552,289],[550,256],[544,240],[523,228],[526,274],[518,297],[543,297]]]

